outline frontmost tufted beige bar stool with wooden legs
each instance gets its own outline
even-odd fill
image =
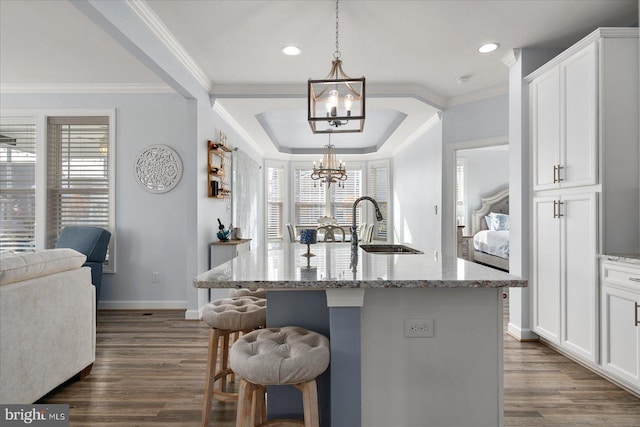
[[[266,328],[242,336],[231,347],[231,369],[240,377],[236,427],[318,427],[316,377],[329,366],[329,340],[295,326]],[[304,421],[266,416],[266,386],[289,384],[302,392]]]

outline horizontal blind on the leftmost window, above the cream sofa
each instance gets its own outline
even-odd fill
[[[35,250],[36,126],[33,118],[0,122],[0,250]]]

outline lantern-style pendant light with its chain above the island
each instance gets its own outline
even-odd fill
[[[336,0],[336,50],[331,71],[324,79],[309,79],[307,84],[307,119],[313,133],[362,132],[364,129],[365,78],[353,79],[342,70],[338,12]]]

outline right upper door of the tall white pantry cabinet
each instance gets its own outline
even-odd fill
[[[560,64],[560,187],[597,183],[596,44]]]

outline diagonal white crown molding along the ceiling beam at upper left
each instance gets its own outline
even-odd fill
[[[207,91],[211,92],[213,83],[185,48],[174,37],[169,29],[160,20],[144,0],[126,0],[126,4],[140,17],[142,22],[158,37],[158,39],[175,55],[180,63],[193,75],[193,77]]]

